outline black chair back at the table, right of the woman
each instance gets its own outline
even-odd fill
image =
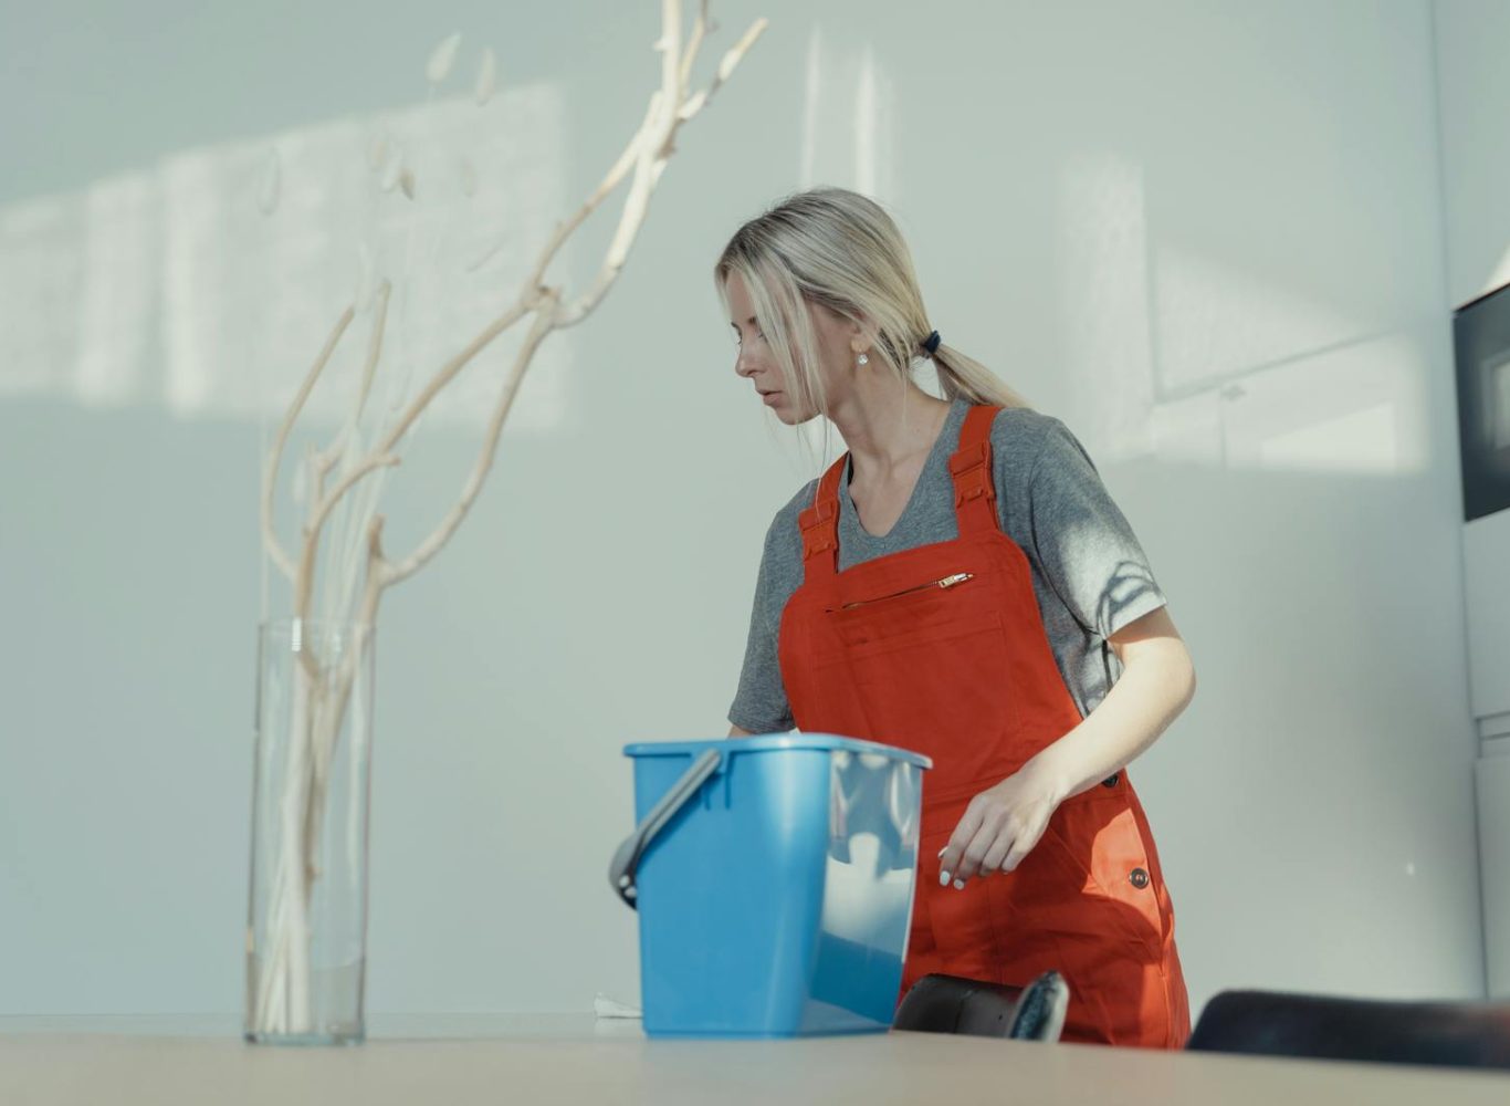
[[[1187,1049],[1510,1070],[1510,1005],[1223,991]]]

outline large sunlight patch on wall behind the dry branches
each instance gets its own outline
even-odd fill
[[[568,215],[563,122],[557,91],[528,86],[485,107],[450,98],[192,150],[0,209],[0,399],[276,419],[362,283],[364,248],[394,281],[382,373],[424,378],[512,302]],[[378,187],[379,133],[402,144],[414,199]],[[270,148],[281,189],[263,215]],[[569,246],[557,266],[571,272]],[[311,397],[313,425],[346,414],[365,329],[359,311]],[[482,425],[519,337],[500,337],[427,422]],[[510,431],[562,423],[571,343],[559,332],[541,348]]]

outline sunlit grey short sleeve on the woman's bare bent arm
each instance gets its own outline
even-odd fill
[[[1057,419],[1046,420],[1028,488],[1039,567],[1087,632],[1110,638],[1166,604],[1132,527]]]

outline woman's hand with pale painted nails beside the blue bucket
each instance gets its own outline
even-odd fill
[[[963,887],[975,876],[1010,872],[1033,851],[1063,799],[1030,762],[969,801],[939,854],[939,882]]]

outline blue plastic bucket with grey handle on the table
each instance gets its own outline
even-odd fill
[[[908,950],[927,757],[832,734],[630,745],[651,1036],[883,1032]]]

